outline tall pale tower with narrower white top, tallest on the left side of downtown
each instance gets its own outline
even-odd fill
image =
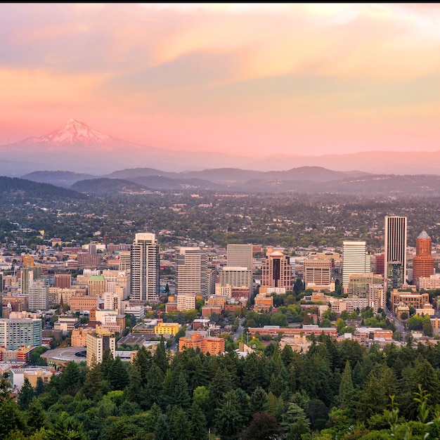
[[[155,234],[137,233],[131,245],[131,299],[159,300],[159,245]]]

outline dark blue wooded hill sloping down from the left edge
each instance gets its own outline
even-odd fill
[[[50,183],[38,183],[18,177],[0,176],[1,198],[72,198],[84,199],[86,196],[75,190],[60,188]]]

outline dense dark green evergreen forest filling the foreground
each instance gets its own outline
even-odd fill
[[[105,353],[69,363],[15,401],[1,382],[0,439],[436,439],[440,344],[382,351],[321,335],[307,353],[169,357]],[[426,434],[429,434],[426,436]]]

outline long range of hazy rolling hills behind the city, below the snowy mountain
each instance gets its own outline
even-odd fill
[[[247,193],[343,193],[358,195],[437,195],[440,176],[367,174],[336,172],[323,167],[299,167],[285,172],[258,172],[246,169],[205,169],[200,172],[162,172],[153,168],[122,169],[107,176],[81,179],[81,174],[65,172],[27,174],[39,181],[65,183],[84,193],[147,193],[152,190],[219,190]],[[117,178],[115,178],[118,176]]]

